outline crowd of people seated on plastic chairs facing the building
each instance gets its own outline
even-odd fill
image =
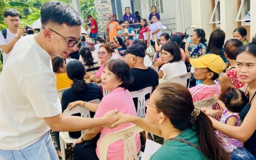
[[[128,11],[128,9],[126,10]],[[131,17],[129,13],[127,12],[126,15]],[[133,23],[133,20],[123,21],[126,23],[126,29],[131,30],[132,26],[130,23]],[[67,79],[72,79],[73,84],[71,89],[64,92],[63,96],[70,92],[70,94],[73,94],[71,97],[76,98],[70,99],[69,95],[62,97],[62,102],[66,101],[65,105],[62,103],[63,110],[67,107],[72,109],[74,106],[80,105],[94,112],[94,117],[99,117],[105,112],[114,109],[118,109],[120,112],[118,113],[119,121],[114,124],[114,126],[121,124],[117,128],[106,129],[99,127],[88,129],[85,134],[75,137],[79,137],[74,143],[76,146],[75,158],[100,159],[98,145],[101,138],[110,132],[131,126],[131,123],[125,126],[122,125],[126,122],[133,122],[142,129],[167,140],[151,156],[151,159],[170,158],[170,156],[184,158],[180,157],[185,152],[184,150],[186,150],[186,153],[189,153],[188,157],[195,156],[199,159],[230,159],[231,157],[237,158],[241,153],[246,153],[246,158],[255,158],[256,149],[253,144],[256,142],[256,126],[253,122],[256,121],[256,112],[254,112],[256,110],[254,107],[254,83],[256,78],[254,76],[255,72],[252,70],[254,62],[256,63],[255,42],[249,44],[249,46],[244,46],[246,44],[245,41],[247,41],[244,30],[236,28],[234,31],[234,38],[236,39],[229,39],[225,42],[225,32],[215,30],[210,34],[207,44],[204,30],[196,28],[192,33],[191,42],[187,42],[185,50],[183,50],[180,48],[181,38],[179,36],[170,37],[167,33],[161,34],[162,31],[159,29],[160,23],[158,23],[156,15],[152,15],[151,27],[146,25],[147,20],[145,18],[141,18],[140,22],[142,32],[139,33],[139,38],[141,39],[134,39],[133,36],[129,36],[129,38],[133,38],[130,40],[134,40],[134,42],[129,41],[128,45],[125,46],[120,36],[114,36],[112,44],[107,44],[102,37],[97,37],[97,44],[95,45],[97,60],[93,58],[91,53],[93,47],[81,47],[79,54],[81,55],[83,62],[81,64],[84,66],[85,71],[79,72],[84,74],[81,75],[80,79],[72,78],[72,76],[67,74]],[[152,39],[147,35],[149,32],[154,33]],[[134,32],[128,32],[128,34],[134,34]],[[144,36],[147,36],[147,38]],[[158,71],[155,71],[151,66],[145,65],[146,49],[149,47],[150,40],[154,40],[151,42],[151,45],[155,48],[151,64],[153,64],[152,67],[159,66]],[[189,46],[193,46],[191,50],[189,50]],[[239,62],[237,62],[237,58]],[[65,61],[62,60],[62,62],[64,63]],[[226,68],[225,64],[227,62],[229,63],[228,68]],[[52,63],[54,63],[54,60],[52,60]],[[80,62],[74,60],[72,63],[68,63],[68,65],[75,68],[75,65],[78,67],[78,63]],[[54,70],[56,76],[58,73],[65,73],[62,63],[56,67],[58,68],[58,70]],[[78,68],[76,69],[78,70]],[[187,79],[179,82],[182,86],[169,82],[171,78],[186,74],[188,71],[192,72],[190,81],[194,81],[194,84],[188,86],[189,89],[183,87],[188,85]],[[221,73],[224,73],[222,77],[220,77]],[[86,83],[84,79],[89,79],[89,83]],[[159,79],[162,81],[159,81]],[[75,83],[78,82],[83,83],[79,87],[83,88],[83,86],[86,86],[84,87],[85,90],[78,92],[72,89]],[[101,84],[98,84],[100,85],[98,87],[97,84],[91,82],[101,82]],[[85,98],[88,97],[85,94],[89,86],[97,88],[99,99],[102,99],[102,89],[109,90],[109,94],[105,95],[99,105],[93,105],[88,103],[89,100]],[[129,92],[141,90],[149,86],[156,89],[152,93],[151,98],[147,97],[149,101],[146,102],[148,111],[146,119],[136,118],[136,104],[133,102]],[[75,96],[76,94],[79,94],[79,96]],[[175,98],[171,97],[173,95],[175,95]],[[249,98],[245,98],[245,95],[248,95],[247,97]],[[210,97],[213,97],[217,102],[217,107],[214,110],[202,108],[200,111],[194,108],[193,102]],[[67,98],[68,100],[66,100]],[[241,101],[236,103],[237,99]],[[93,100],[93,98],[90,100]],[[120,108],[121,106],[122,108]],[[184,106],[187,106],[187,108],[184,108]],[[234,106],[237,108],[234,108]],[[186,119],[184,124],[178,122],[180,121],[178,118],[182,119],[181,113],[191,115],[186,116],[189,119]],[[173,115],[175,115],[175,118],[173,118]],[[152,119],[153,117],[154,119]],[[217,120],[215,121],[212,118]],[[252,122],[249,118],[252,119]],[[242,123],[240,119],[243,120]],[[213,127],[217,129],[216,132],[213,132],[215,129],[212,126],[209,126],[210,121],[212,121]],[[170,125],[170,128],[175,130],[171,130],[174,133],[167,134],[171,132],[170,130],[165,130],[162,126],[163,123]],[[227,124],[229,125],[228,127]],[[208,134],[204,135],[206,127]],[[194,129],[197,130],[195,131]],[[236,129],[239,133],[232,132],[231,130],[233,129]],[[242,134],[242,129],[248,131]],[[199,132],[201,134],[197,134]],[[186,137],[188,133],[190,135]],[[138,137],[139,135],[136,137],[136,144],[139,151],[140,143]],[[219,139],[218,137],[221,138]],[[91,145],[86,146],[86,142],[91,142]],[[192,146],[188,145],[188,143],[192,143]],[[231,145],[233,143],[236,143],[236,145]],[[177,146],[173,146],[175,144]],[[110,145],[107,158],[118,157],[122,159],[122,147],[123,143]],[[212,147],[214,150],[210,149]],[[120,151],[116,151],[117,148]],[[205,149],[201,150],[202,148]],[[167,151],[170,150],[172,150],[170,155],[169,153],[167,155]],[[58,147],[58,154],[59,152]],[[200,152],[200,154],[197,154],[197,152]]]

